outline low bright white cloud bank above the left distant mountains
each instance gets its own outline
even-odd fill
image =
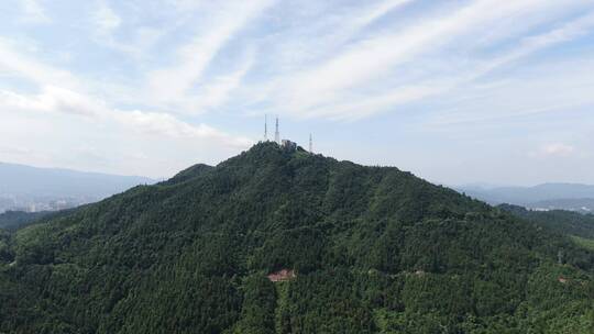
[[[0,118],[3,143],[20,147],[16,152],[0,145],[0,159],[81,170],[161,178],[197,162],[217,163],[253,144],[204,123],[113,109],[57,88],[38,94],[1,91]],[[144,157],[142,163],[139,157]]]

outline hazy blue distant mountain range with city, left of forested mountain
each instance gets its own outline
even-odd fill
[[[61,210],[154,182],[138,176],[0,163],[0,212]]]

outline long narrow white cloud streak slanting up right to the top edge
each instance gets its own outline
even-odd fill
[[[491,3],[490,3],[491,2]],[[501,1],[495,1],[499,2]],[[516,5],[527,1],[514,1]],[[529,1],[528,1],[529,2]],[[488,8],[488,4],[493,8]],[[427,48],[436,48],[455,34],[463,33],[473,25],[485,24],[505,15],[504,4],[497,11],[493,1],[480,1],[453,15],[429,19],[398,33],[388,33],[365,40],[327,64],[292,78],[288,91],[292,101],[300,101],[300,107],[310,108],[320,100],[337,98],[342,90],[385,75],[397,64],[411,59]],[[306,102],[307,101],[307,102]]]

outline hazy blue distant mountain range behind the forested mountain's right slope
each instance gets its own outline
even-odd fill
[[[490,204],[509,203],[535,210],[594,212],[594,186],[543,183],[535,187],[455,187],[460,192]]]

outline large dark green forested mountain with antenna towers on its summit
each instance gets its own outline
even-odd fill
[[[594,253],[571,238],[397,168],[274,143],[0,240],[0,333],[594,326]]]

